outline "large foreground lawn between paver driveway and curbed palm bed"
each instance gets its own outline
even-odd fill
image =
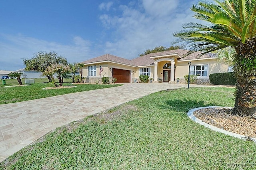
[[[220,87],[154,93],[58,128],[0,169],[255,169],[255,143],[186,115],[196,107],[232,107],[233,93]]]

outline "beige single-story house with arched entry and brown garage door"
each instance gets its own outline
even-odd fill
[[[150,53],[129,60],[110,54],[83,61],[83,77],[86,83],[101,82],[102,77],[109,77],[110,81],[116,77],[116,83],[132,83],[140,81],[140,75],[148,75],[154,83],[168,82],[185,83],[184,75],[188,75],[188,62],[191,61],[190,75],[197,75],[198,84],[209,83],[211,73],[228,72],[229,65],[217,60],[216,53],[199,55],[201,52],[188,54],[188,50],[175,49],[157,53]]]

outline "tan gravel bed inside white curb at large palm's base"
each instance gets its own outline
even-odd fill
[[[232,115],[231,109],[207,108],[194,111],[194,116],[205,123],[230,132],[256,138],[256,120]]]

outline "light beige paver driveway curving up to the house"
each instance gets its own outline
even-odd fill
[[[186,84],[127,83],[107,89],[0,105],[0,162],[70,122],[165,89]],[[193,85],[190,87],[202,87]]]

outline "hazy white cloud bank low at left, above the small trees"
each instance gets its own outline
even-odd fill
[[[0,40],[0,69],[6,70],[23,68],[22,58],[32,58],[38,51],[55,51],[70,63],[85,61],[98,55],[90,49],[90,42],[79,36],[75,36],[73,43],[69,45],[38,40],[21,34],[0,34]]]

